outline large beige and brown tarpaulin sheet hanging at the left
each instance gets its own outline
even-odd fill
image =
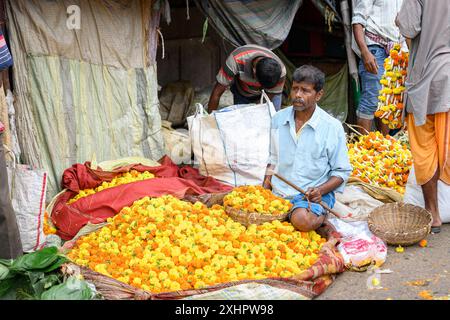
[[[49,199],[73,163],[163,156],[151,1],[10,0],[7,14],[23,160],[48,171]]]

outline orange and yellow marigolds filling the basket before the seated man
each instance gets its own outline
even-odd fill
[[[289,212],[292,203],[275,196],[262,186],[242,186],[234,188],[223,199],[225,207],[243,212],[258,212],[261,214],[280,215]]]

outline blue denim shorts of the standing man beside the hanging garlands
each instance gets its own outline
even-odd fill
[[[361,78],[361,99],[356,110],[358,118],[372,120],[378,107],[378,95],[381,90],[380,80],[384,73],[384,59],[388,57],[386,50],[378,45],[370,45],[369,51],[374,55],[378,64],[378,74],[366,71],[364,62],[359,61],[359,77]]]

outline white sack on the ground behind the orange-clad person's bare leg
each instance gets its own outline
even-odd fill
[[[414,166],[411,168],[406,183],[403,202],[425,208],[422,187],[417,184]],[[438,181],[438,208],[443,223],[450,223],[450,186]]]

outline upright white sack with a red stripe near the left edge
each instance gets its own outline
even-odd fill
[[[41,249],[45,245],[47,173],[16,163],[9,165],[7,172],[11,203],[16,214],[23,251]]]

